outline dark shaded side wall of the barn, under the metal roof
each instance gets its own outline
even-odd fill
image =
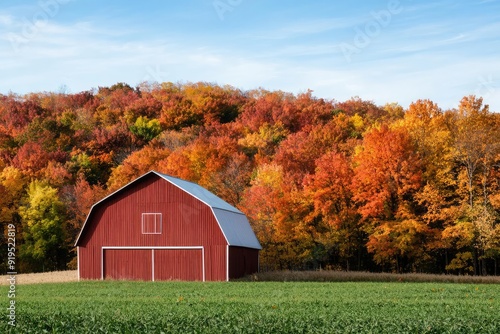
[[[229,247],[229,279],[259,271],[259,251],[252,248]]]

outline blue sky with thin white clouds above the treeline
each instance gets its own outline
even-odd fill
[[[0,94],[145,81],[500,112],[500,0],[0,0]]]

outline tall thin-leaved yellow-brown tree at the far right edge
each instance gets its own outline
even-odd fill
[[[489,113],[482,98],[464,97],[460,101],[454,128],[454,156],[462,168],[458,194],[462,196],[461,215],[457,217],[473,226],[473,265],[475,274],[485,274],[484,259],[495,231],[496,213],[490,203],[494,169],[498,168],[500,135],[498,118]],[[464,191],[461,191],[464,190]],[[482,193],[482,196],[479,194]],[[481,260],[478,263],[478,260]]]

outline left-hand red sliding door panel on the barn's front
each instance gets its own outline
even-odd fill
[[[104,279],[151,281],[150,249],[105,249]]]

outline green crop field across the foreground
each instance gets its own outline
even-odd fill
[[[18,285],[12,333],[500,333],[500,285],[73,282]]]

